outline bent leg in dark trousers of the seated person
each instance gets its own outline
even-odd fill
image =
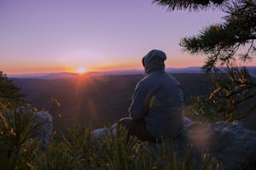
[[[120,119],[118,123],[128,128],[128,136],[137,136],[138,139],[143,141],[155,141],[155,138],[148,133],[145,122],[137,122],[132,120],[131,117],[125,117]]]

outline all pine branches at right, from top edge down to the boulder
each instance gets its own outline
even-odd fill
[[[256,84],[246,67],[236,62],[253,60],[256,51],[255,0],[154,0],[168,10],[221,10],[224,21],[207,26],[196,36],[183,37],[180,46],[190,54],[203,54],[202,69],[212,73],[212,93],[192,98],[195,111],[208,121],[240,120],[256,108]]]

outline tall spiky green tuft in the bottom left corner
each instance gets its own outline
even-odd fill
[[[31,109],[19,108],[0,111],[0,167],[1,169],[26,169],[38,152],[37,139],[32,139]]]

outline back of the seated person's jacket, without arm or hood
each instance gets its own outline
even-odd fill
[[[145,122],[155,138],[176,137],[183,128],[183,89],[165,71],[153,71],[143,81],[154,87],[148,103]]]

